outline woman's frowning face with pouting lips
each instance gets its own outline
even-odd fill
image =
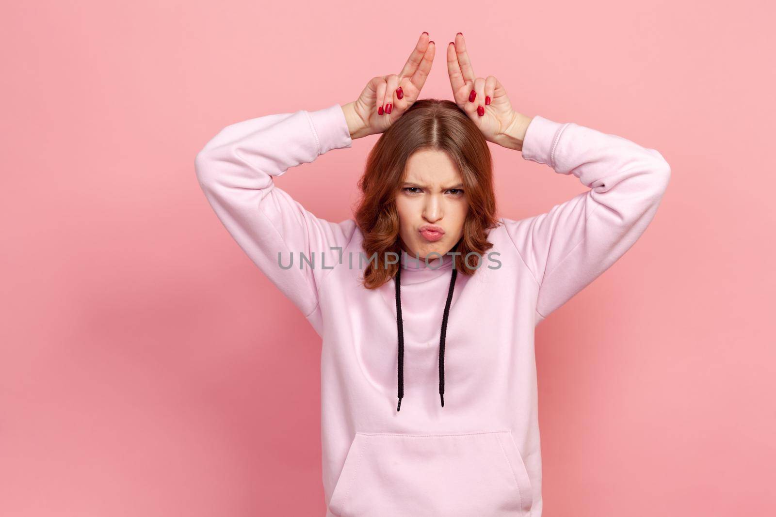
[[[440,150],[419,150],[409,160],[396,196],[399,236],[410,257],[444,255],[463,235],[469,202],[456,165]],[[438,230],[438,231],[435,231]],[[435,264],[438,255],[428,257]]]

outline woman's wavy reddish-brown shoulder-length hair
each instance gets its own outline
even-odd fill
[[[366,259],[376,253],[376,260],[368,261],[364,270],[365,288],[379,288],[399,269],[399,264],[386,263],[386,253],[401,257],[396,195],[404,182],[407,160],[419,150],[444,151],[462,177],[469,213],[462,238],[450,250],[461,253],[453,255],[459,274],[474,274],[485,252],[493,246],[487,232],[498,225],[498,220],[487,140],[455,102],[424,98],[380,135],[359,179],[361,199],[355,209],[355,222],[364,236]],[[470,255],[467,259],[467,253],[472,252],[479,257]]]

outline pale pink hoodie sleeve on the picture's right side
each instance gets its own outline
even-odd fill
[[[621,136],[541,116],[528,125],[522,156],[590,189],[541,215],[504,219],[539,285],[538,323],[636,243],[666,191],[670,166],[658,151]]]

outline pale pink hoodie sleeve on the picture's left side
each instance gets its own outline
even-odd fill
[[[199,185],[223,226],[308,318],[317,310],[320,282],[338,263],[340,252],[332,248],[345,248],[355,221],[317,218],[275,186],[273,178],[351,144],[345,114],[340,105],[332,105],[227,126],[195,160]]]

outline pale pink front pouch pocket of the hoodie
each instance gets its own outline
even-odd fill
[[[338,517],[530,515],[531,482],[509,431],[355,433],[331,494]]]

